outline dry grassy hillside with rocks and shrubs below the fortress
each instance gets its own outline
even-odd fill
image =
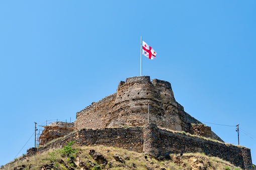
[[[94,149],[96,152],[94,152]],[[91,151],[90,151],[91,150]],[[91,152],[91,154],[90,154]],[[115,158],[114,158],[115,157]],[[117,147],[72,146],[50,150],[15,162],[4,169],[241,169],[218,157],[202,153],[170,154],[168,160],[157,160]]]

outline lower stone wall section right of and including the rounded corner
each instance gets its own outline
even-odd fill
[[[220,157],[244,169],[252,168],[249,148],[226,145],[159,129],[155,124],[144,126],[144,136],[143,151],[153,156],[164,156],[169,153],[204,152],[207,155]]]

